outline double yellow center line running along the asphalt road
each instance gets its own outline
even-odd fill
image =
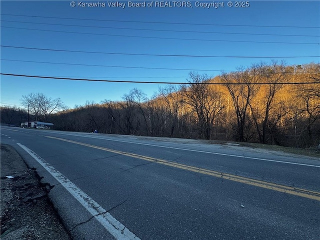
[[[223,179],[227,179],[227,180],[231,180],[231,181],[241,182],[241,183],[248,184],[248,185],[253,185],[253,186],[257,186],[257,187],[262,187],[262,188],[266,188],[266,189],[270,189],[270,190],[274,190],[274,191],[284,192],[284,193],[288,193],[288,194],[297,195],[297,196],[306,197],[309,199],[320,201],[320,192],[317,192],[317,191],[310,191],[310,190],[306,190],[306,189],[302,189],[302,188],[295,188],[295,187],[291,187],[291,186],[280,185],[280,184],[267,182],[267,181],[261,181],[261,180],[252,179],[252,178],[248,178],[248,177],[232,175],[229,173],[213,171],[210,169],[205,169],[205,168],[196,167],[196,166],[189,166],[189,165],[185,165],[185,164],[181,164],[181,163],[177,163],[177,162],[171,162],[171,161],[167,161],[167,160],[163,160],[163,159],[159,159],[159,158],[139,155],[139,154],[130,153],[130,152],[113,150],[113,149],[109,149],[109,148],[105,148],[105,147],[101,147],[101,146],[95,146],[95,145],[91,145],[91,144],[87,144],[87,143],[72,141],[72,140],[63,139],[63,138],[54,137],[54,136],[46,136],[46,137],[61,140],[61,141],[67,141],[67,142],[71,142],[71,143],[75,143],[75,144],[79,144],[79,145],[83,145],[83,146],[88,146],[88,147],[92,147],[92,148],[96,148],[96,149],[100,149],[100,150],[104,150],[104,151],[109,151],[109,152],[113,152],[116,154],[134,157],[134,158],[138,158],[138,159],[142,159],[142,160],[146,160],[146,161],[151,161],[151,162],[155,162],[155,163],[159,163],[159,164],[163,164],[163,165],[167,165],[167,166],[172,166],[172,167],[176,167],[179,169],[202,173],[202,174],[206,174],[206,175],[210,175],[210,176],[214,176],[214,177],[219,177],[219,178],[223,178]]]

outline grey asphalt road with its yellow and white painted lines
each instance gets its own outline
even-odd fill
[[[320,239],[320,159],[1,126],[74,239]]]

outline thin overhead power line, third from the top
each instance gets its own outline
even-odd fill
[[[242,41],[242,40],[216,40],[216,39],[194,39],[194,38],[176,38],[176,37],[160,37],[160,36],[133,36],[133,35],[118,35],[118,34],[105,34],[105,33],[92,33],[92,32],[77,32],[77,31],[58,31],[47,29],[34,29],[24,27],[11,27],[1,26],[5,28],[35,30],[35,31],[50,31],[50,32],[63,32],[63,33],[76,33],[76,34],[89,34],[89,35],[103,35],[103,36],[120,36],[120,37],[136,37],[136,38],[151,38],[151,39],[167,39],[167,40],[191,40],[191,41],[222,41],[222,42],[250,42],[250,43],[281,43],[281,44],[315,44],[315,42],[286,42],[286,41]]]

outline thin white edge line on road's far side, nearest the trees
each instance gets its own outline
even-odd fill
[[[108,141],[119,141],[119,142],[133,143],[133,144],[139,144],[139,145],[164,147],[164,148],[171,148],[171,149],[184,150],[184,151],[195,151],[195,152],[209,153],[209,154],[216,154],[216,155],[223,155],[223,156],[241,157],[241,158],[248,158],[248,159],[255,159],[255,160],[262,160],[262,161],[273,161],[273,162],[287,163],[287,164],[293,164],[293,165],[320,167],[320,165],[311,165],[311,164],[298,163],[298,162],[290,162],[290,161],[271,160],[271,159],[265,159],[265,158],[259,158],[259,157],[251,157],[251,156],[240,156],[240,155],[233,155],[233,154],[226,154],[226,153],[218,153],[218,152],[212,152],[212,151],[192,150],[192,149],[186,149],[186,148],[180,148],[180,147],[161,146],[161,145],[154,145],[154,144],[134,142],[134,141],[122,141],[122,140],[115,140],[115,139],[109,139],[109,138],[103,138],[103,137],[96,137],[96,136],[83,136],[83,135],[68,134],[68,133],[57,133],[57,132],[52,132],[52,133],[64,134],[64,135],[71,135],[71,136],[81,136],[81,137],[88,137],[88,138],[96,138],[96,139],[103,139],[103,140],[108,140]]]

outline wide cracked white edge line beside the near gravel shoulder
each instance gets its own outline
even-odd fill
[[[126,228],[121,222],[114,218],[109,212],[107,212],[102,206],[94,201],[90,196],[78,188],[73,182],[67,179],[62,173],[57,171],[48,162],[38,156],[35,152],[27,148],[26,146],[18,144],[22,149],[29,153],[44,169],[46,169],[71,195],[78,200],[89,211],[95,219],[97,219],[104,228],[109,231],[117,240],[141,240],[128,228]]]

